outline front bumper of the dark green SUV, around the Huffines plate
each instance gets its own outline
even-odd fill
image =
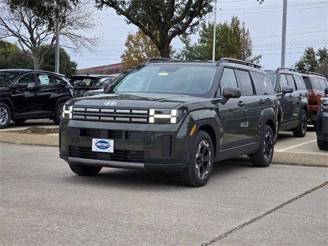
[[[189,159],[187,132],[187,129],[182,131],[180,124],[63,119],[59,156],[68,163],[86,166],[182,170]],[[93,152],[92,138],[113,139],[114,153]]]

